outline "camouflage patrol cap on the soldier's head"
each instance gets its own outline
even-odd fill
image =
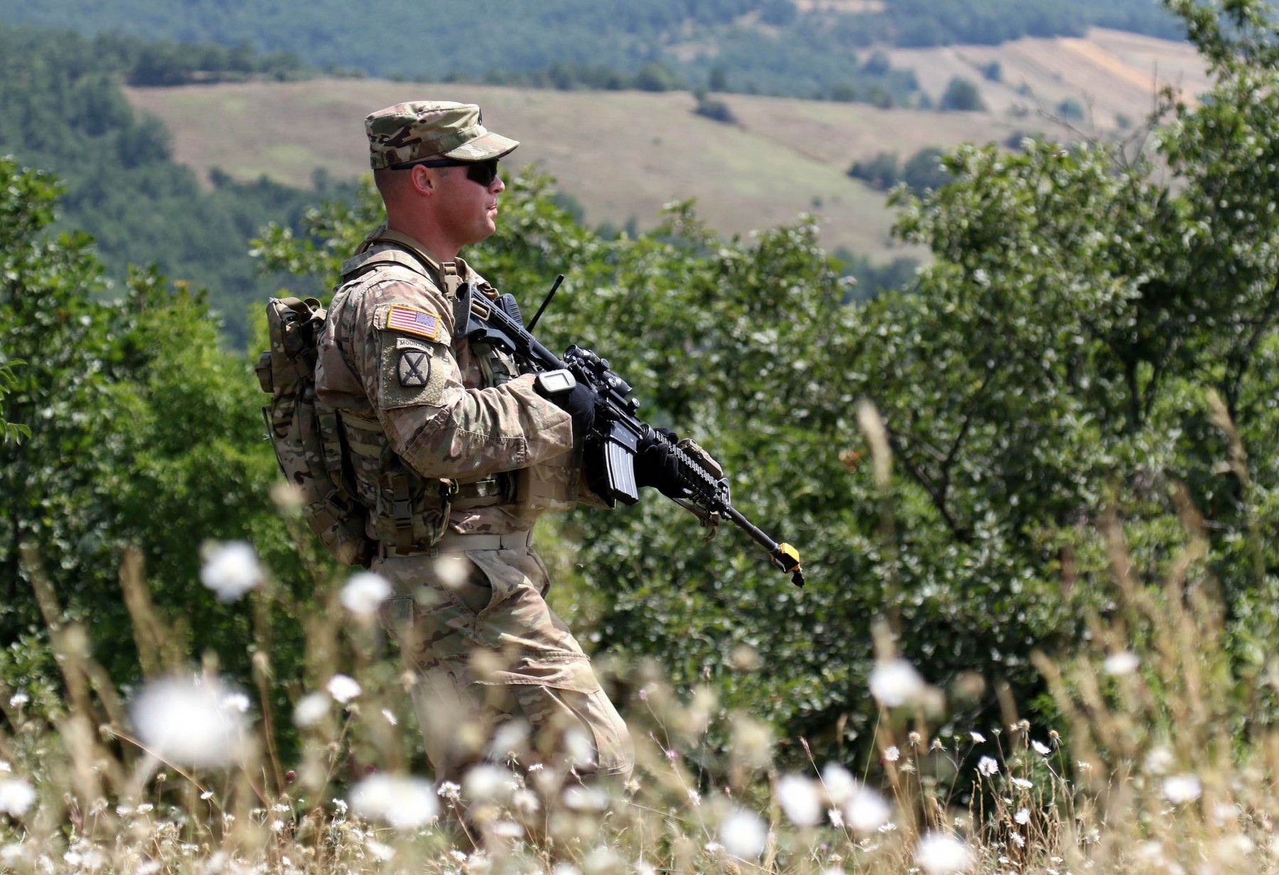
[[[475,104],[443,100],[412,100],[377,110],[365,119],[365,130],[373,170],[439,155],[487,161],[519,146],[519,141],[485,128]]]

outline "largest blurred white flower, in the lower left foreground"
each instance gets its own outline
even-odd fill
[[[156,756],[193,766],[226,765],[246,739],[244,715],[214,678],[162,678],[143,687],[129,714]]]

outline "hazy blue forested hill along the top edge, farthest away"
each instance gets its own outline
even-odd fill
[[[1088,26],[1182,38],[1155,0],[0,0],[0,19],[292,51],[326,69],[440,81],[683,86],[857,99],[872,45],[998,43]]]

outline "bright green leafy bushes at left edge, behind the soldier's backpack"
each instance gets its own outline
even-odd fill
[[[220,351],[201,296],[147,270],[109,299],[91,239],[50,234],[58,192],[0,159],[0,357],[27,362],[6,416],[31,427],[0,444],[0,637],[36,640],[43,626],[19,556],[28,544],[68,615],[92,619],[113,677],[137,677],[118,583],[134,544],[180,633],[247,677],[248,617],[220,606],[197,572],[203,540],[249,535],[297,571],[266,500],[278,472],[260,393],[244,359]],[[281,646],[276,659],[289,658]]]

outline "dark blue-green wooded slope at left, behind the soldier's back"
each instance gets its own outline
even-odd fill
[[[183,54],[185,67],[177,61]],[[214,69],[198,69],[202,60]],[[156,262],[173,279],[207,288],[233,339],[242,339],[247,302],[286,279],[258,276],[247,240],[269,221],[295,224],[317,194],[225,174],[215,174],[212,191],[202,188],[173,161],[169,130],[133,110],[122,82],[147,70],[178,81],[182,69],[192,78],[284,70],[278,61],[216,46],[178,51],[137,37],[0,23],[0,155],[61,178],[61,226],[92,234],[116,280],[129,264]],[[327,197],[343,194],[320,182]]]

